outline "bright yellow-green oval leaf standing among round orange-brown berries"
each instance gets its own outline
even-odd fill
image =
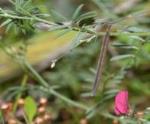
[[[33,98],[30,96],[25,99],[24,111],[27,118],[29,119],[29,122],[32,122],[34,116],[36,115],[37,105]]]

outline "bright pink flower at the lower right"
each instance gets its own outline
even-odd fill
[[[120,91],[115,96],[114,112],[116,115],[127,115],[129,111],[128,91]]]

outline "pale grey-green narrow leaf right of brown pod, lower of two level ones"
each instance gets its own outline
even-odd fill
[[[117,61],[121,59],[127,59],[127,58],[134,58],[135,56],[133,54],[125,54],[125,55],[118,55],[111,58],[110,61]]]

